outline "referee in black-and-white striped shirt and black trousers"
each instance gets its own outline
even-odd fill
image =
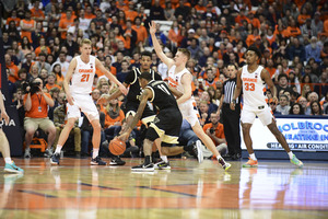
[[[230,79],[223,83],[222,96],[218,113],[220,113],[221,110],[229,155],[232,158],[232,160],[238,160],[242,157],[239,128],[241,96],[236,100],[235,111],[230,108],[230,103],[233,101],[234,91],[237,83],[237,67],[233,64],[230,64],[226,67],[226,71]]]

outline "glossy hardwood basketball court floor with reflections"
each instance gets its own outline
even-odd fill
[[[108,160],[107,160],[108,161]],[[15,159],[25,174],[0,171],[0,218],[328,218],[328,163],[172,160],[171,171],[132,173],[125,166],[91,166],[89,159]],[[1,169],[3,161],[0,162]]]

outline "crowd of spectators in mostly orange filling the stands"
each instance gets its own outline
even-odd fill
[[[66,111],[62,81],[70,60],[79,55],[81,39],[92,41],[92,54],[122,82],[130,69],[140,66],[140,54],[152,51],[148,33],[151,20],[172,23],[168,31],[157,24],[156,33],[168,57],[178,47],[191,53],[187,68],[194,76],[201,125],[211,123],[211,113],[218,110],[222,84],[229,79],[226,66],[245,65],[244,53],[251,45],[260,48],[260,65],[277,84],[278,103],[267,92],[273,113],[328,114],[328,2],[325,0],[16,0],[12,9],[2,10],[10,96],[20,112],[22,127],[24,117],[31,115],[25,101],[26,81],[40,79],[42,93],[51,95],[54,104],[49,101],[47,113],[55,122],[58,138]],[[154,51],[152,69],[166,79],[167,67]],[[101,71],[96,73],[94,101],[115,89]],[[35,104],[39,101],[36,97],[32,97]],[[119,132],[124,119],[121,101],[98,106],[104,114],[102,141]],[[35,111],[45,113],[37,106]],[[82,147],[75,140],[75,149],[86,153],[92,130],[87,122],[81,124],[77,124],[81,131],[74,129],[73,135],[82,139]],[[58,140],[52,129],[48,131],[51,142]],[[31,140],[32,132],[25,140]]]

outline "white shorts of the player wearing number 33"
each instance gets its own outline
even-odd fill
[[[271,108],[265,107],[262,110],[242,110],[241,120],[243,124],[253,124],[255,117],[258,117],[263,126],[268,126],[272,123],[272,112]]]

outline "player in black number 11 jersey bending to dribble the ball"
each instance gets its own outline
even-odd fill
[[[141,165],[132,166],[132,171],[154,171],[154,164],[151,161],[152,146],[155,142],[156,147],[161,150],[161,143],[177,143],[179,131],[183,123],[183,115],[178,108],[174,95],[171,93],[169,88],[164,81],[155,81],[151,74],[143,72],[139,76],[139,82],[143,92],[140,96],[140,105],[133,117],[132,123],[127,130],[122,132],[118,138],[126,140],[139,119],[144,113],[148,101],[152,102],[157,108],[159,114],[154,120],[150,124],[145,139],[143,141],[144,163]],[[180,148],[180,147],[174,147]],[[169,149],[162,150],[172,153]]]

